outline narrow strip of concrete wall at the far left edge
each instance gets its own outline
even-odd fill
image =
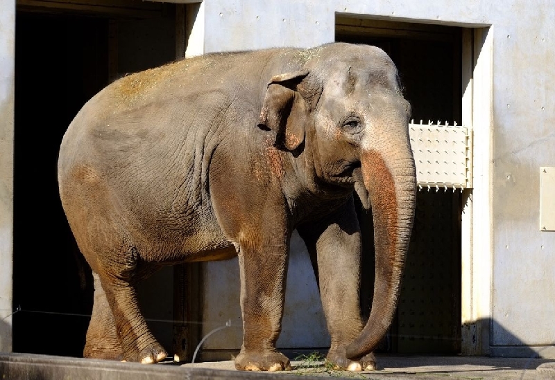
[[[15,1],[0,0],[0,351],[12,350]]]

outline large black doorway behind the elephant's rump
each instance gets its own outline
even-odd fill
[[[15,352],[83,354],[94,288],[58,194],[60,142],[79,109],[110,80],[175,58],[172,7],[149,5],[143,18],[17,10]]]

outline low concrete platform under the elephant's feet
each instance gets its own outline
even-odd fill
[[[185,364],[167,361],[157,365],[120,363],[61,356],[0,353],[0,379],[295,379],[373,380],[551,380],[555,379],[555,360],[507,359],[468,356],[378,356],[373,372],[344,372],[326,368],[321,362],[293,362],[287,372],[241,372],[232,361]]]

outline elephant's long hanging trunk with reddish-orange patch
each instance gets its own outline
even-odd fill
[[[400,140],[374,141],[362,152],[362,177],[374,217],[376,274],[370,318],[347,347],[351,360],[359,360],[377,347],[397,308],[416,197],[407,125],[401,127]]]

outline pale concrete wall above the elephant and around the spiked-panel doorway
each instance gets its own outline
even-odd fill
[[[555,357],[555,233],[538,226],[539,168],[555,166],[548,0],[205,0],[203,12],[205,53],[332,42],[336,12],[479,28],[463,83],[475,129],[474,217],[463,233],[474,275],[463,297],[484,328],[481,353]]]

